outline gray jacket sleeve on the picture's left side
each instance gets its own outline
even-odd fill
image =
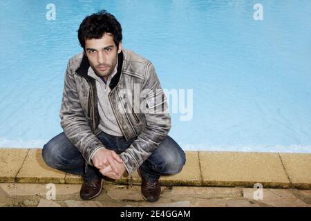
[[[79,102],[74,75],[73,70],[70,70],[69,60],[64,77],[62,108],[59,111],[59,117],[68,140],[82,153],[86,162],[93,165],[91,158],[97,150],[104,148],[104,145],[93,134],[84,115]]]

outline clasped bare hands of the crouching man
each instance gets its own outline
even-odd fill
[[[118,180],[122,177],[126,168],[123,160],[115,151],[102,148],[92,158],[93,165],[100,170],[102,175]]]

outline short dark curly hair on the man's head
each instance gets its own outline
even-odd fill
[[[86,39],[100,39],[104,33],[113,35],[113,41],[117,48],[119,42],[122,41],[122,28],[119,21],[106,10],[85,17],[77,32],[80,45],[84,50]]]

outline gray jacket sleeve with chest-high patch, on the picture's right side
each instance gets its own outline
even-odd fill
[[[120,154],[129,174],[132,174],[147,160],[151,153],[160,146],[164,138],[167,137],[167,133],[171,129],[167,99],[160,86],[155,68],[151,63],[147,67],[146,81],[142,86],[142,90],[151,91],[151,94],[147,95],[147,97],[141,95],[141,102],[147,106],[147,110],[144,111],[146,126],[131,146]],[[157,99],[159,97],[162,97],[162,99]]]

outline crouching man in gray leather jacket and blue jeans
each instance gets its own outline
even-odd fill
[[[48,166],[82,175],[83,200],[100,195],[103,177],[138,169],[142,197],[160,198],[160,175],[182,170],[185,153],[167,135],[171,118],[153,64],[122,49],[122,28],[106,11],[86,17],[78,39],[84,52],[68,61],[62,108],[64,133],[44,145]]]

